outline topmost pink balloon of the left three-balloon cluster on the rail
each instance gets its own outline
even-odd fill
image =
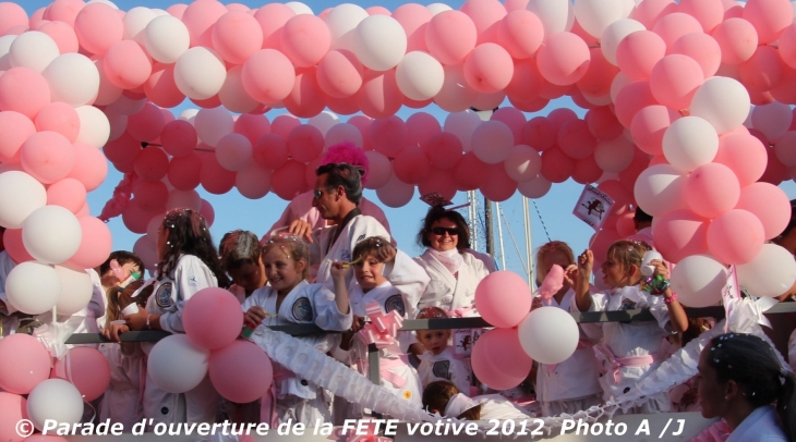
[[[206,349],[224,348],[243,328],[243,310],[236,297],[224,288],[196,292],[185,303],[182,324],[191,343]]]

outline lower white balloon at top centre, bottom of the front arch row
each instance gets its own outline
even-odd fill
[[[412,51],[396,67],[398,89],[408,98],[423,101],[434,98],[445,83],[445,70],[427,52]]]

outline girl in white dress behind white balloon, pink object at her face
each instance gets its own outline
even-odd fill
[[[560,241],[552,241],[536,251],[536,278],[545,280],[554,265],[566,269],[574,263],[575,257],[569,246]],[[553,294],[547,303],[569,311],[572,299],[575,299],[575,291],[571,288],[571,282],[566,278],[560,282],[560,290]],[[540,292],[544,293],[543,290]],[[547,295],[550,294],[545,293],[545,296]],[[535,304],[544,304],[544,302],[534,302],[534,308]],[[602,402],[602,388],[598,380],[598,361],[592,349],[593,344],[587,340],[582,330],[580,330],[580,335],[578,349],[569,359],[556,365],[539,365],[535,392],[542,408],[542,416],[557,416],[562,413],[571,415]],[[555,339],[555,336],[551,339]]]

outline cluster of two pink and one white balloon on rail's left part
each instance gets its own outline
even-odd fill
[[[273,382],[270,359],[256,344],[238,340],[243,310],[224,288],[204,288],[185,303],[185,334],[160,340],[149,352],[147,373],[160,389],[184,393],[209,375],[225,398],[245,404],[263,397]]]

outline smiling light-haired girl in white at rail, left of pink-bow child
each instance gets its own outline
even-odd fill
[[[277,236],[263,246],[263,263],[269,286],[257,288],[243,303],[245,323],[255,329],[265,324],[314,323],[324,330],[345,331],[351,328],[352,316],[348,294],[333,293],[323,284],[306,282],[310,255],[306,244],[298,236]],[[331,277],[343,284],[345,271],[337,262],[331,266]],[[301,337],[319,352],[337,347],[339,334]],[[331,418],[331,396],[323,388],[296,377],[275,366],[276,409],[273,397],[264,397],[261,420],[274,423],[292,419],[293,422],[315,425]]]

